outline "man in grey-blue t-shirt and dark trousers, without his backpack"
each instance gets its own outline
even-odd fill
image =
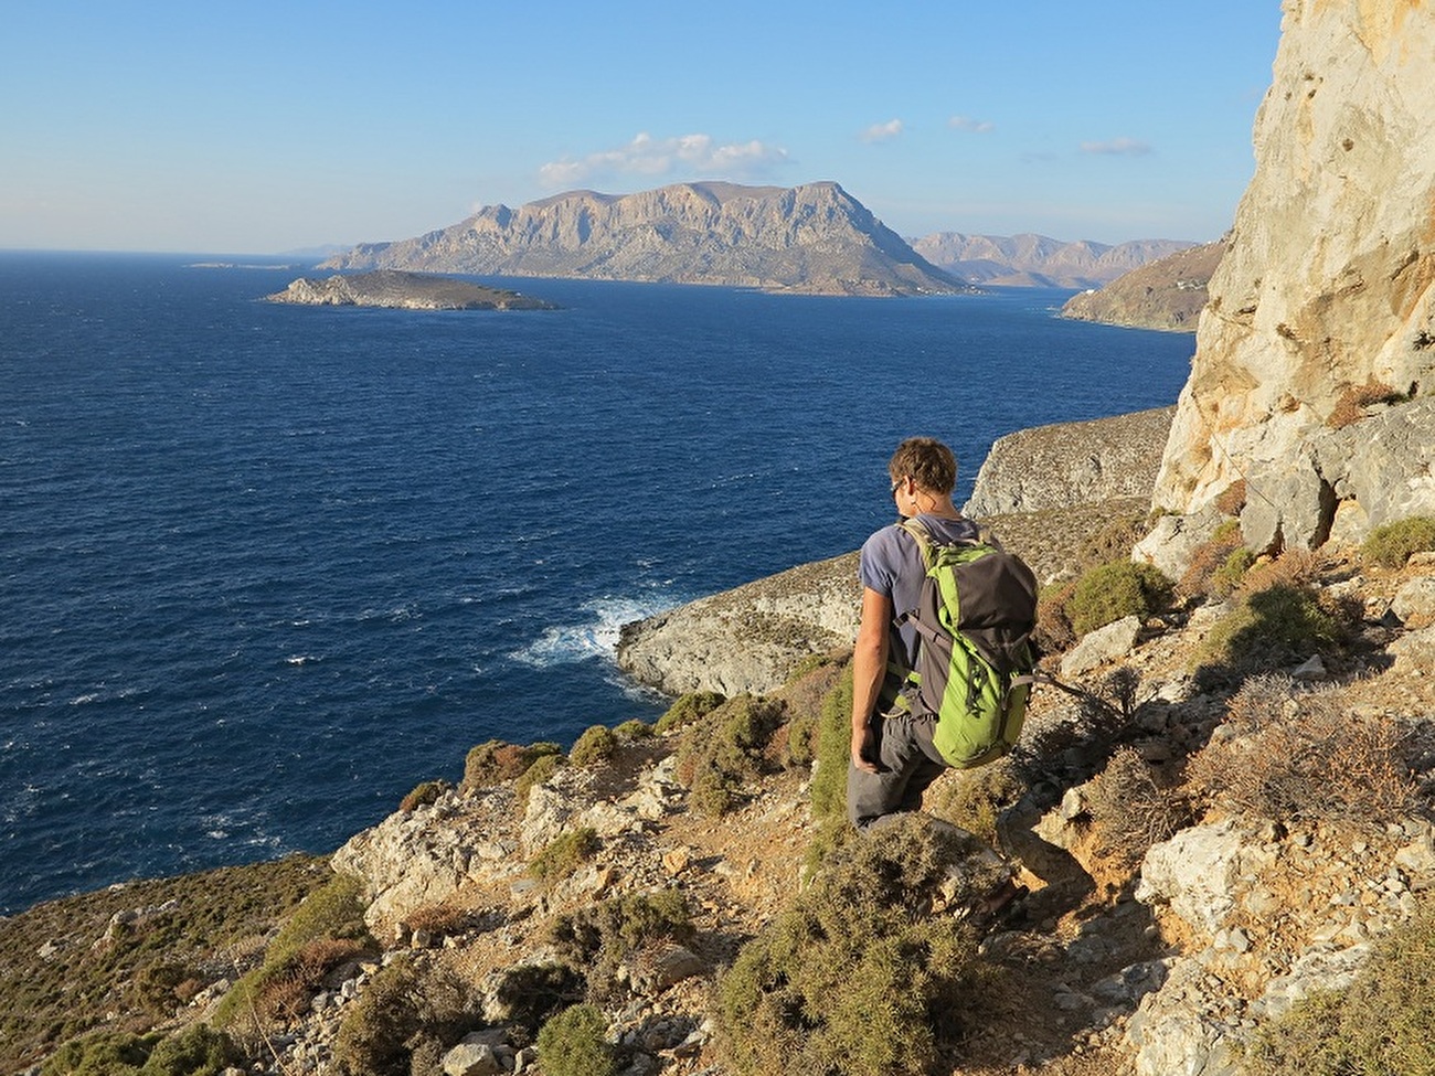
[[[908,438],[897,446],[887,472],[898,515],[916,518],[933,541],[977,537],[977,525],[951,502],[957,461],[940,440]],[[920,809],[923,792],[947,768],[931,740],[936,716],[893,709],[903,677],[888,670],[888,659],[895,656],[903,669],[916,667],[917,659],[916,628],[898,628],[894,621],[917,607],[926,575],[917,541],[895,524],[862,545],[862,618],[852,653],[852,762],[847,773],[847,812],[861,831]]]

